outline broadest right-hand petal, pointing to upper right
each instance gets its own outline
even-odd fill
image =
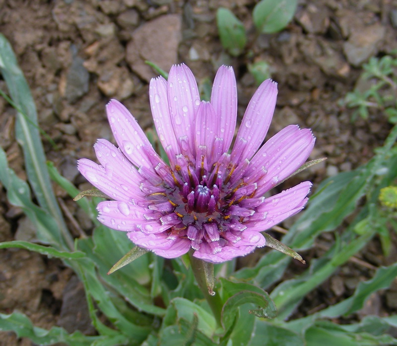
[[[289,125],[270,138],[258,151],[245,172],[248,176],[264,168],[267,173],[259,180],[256,195],[260,196],[294,173],[312,152],[315,138],[309,129]]]

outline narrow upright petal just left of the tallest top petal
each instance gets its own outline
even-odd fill
[[[149,99],[154,126],[164,150],[174,155],[180,154],[181,150],[175,137],[168,105],[167,81],[163,77],[151,79]],[[173,162],[175,157],[172,155],[169,159]]]

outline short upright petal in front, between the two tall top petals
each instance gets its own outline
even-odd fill
[[[215,111],[209,102],[202,101],[197,111],[197,119],[195,124],[195,142],[196,150],[201,147],[206,148],[208,164],[212,166],[212,149],[217,133],[218,122],[216,121]],[[197,159],[199,161],[199,159]]]

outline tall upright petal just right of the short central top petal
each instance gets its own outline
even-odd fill
[[[221,66],[216,73],[211,92],[211,104],[219,119],[218,137],[223,138],[222,153],[232,143],[237,119],[236,77],[231,66]]]

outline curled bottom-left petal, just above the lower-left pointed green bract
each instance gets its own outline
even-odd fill
[[[128,237],[137,246],[153,251],[156,255],[173,259],[186,254],[191,241],[186,238],[168,239],[166,232],[159,234],[144,234],[139,231],[129,232]]]

